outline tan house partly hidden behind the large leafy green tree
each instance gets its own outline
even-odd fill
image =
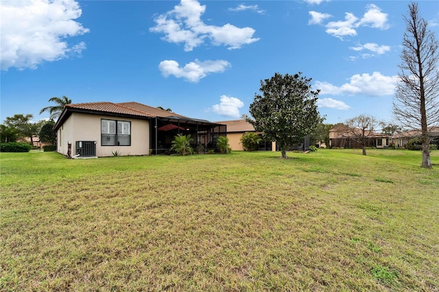
[[[254,132],[254,127],[251,123],[248,123],[244,119],[233,120],[233,121],[217,121],[219,123],[227,126],[226,136],[228,138],[228,144],[232,150],[244,150],[241,144],[241,137],[246,134],[246,132]],[[262,134],[258,132],[262,138]],[[276,149],[276,143],[261,141],[259,144],[259,150],[262,151],[274,151]]]

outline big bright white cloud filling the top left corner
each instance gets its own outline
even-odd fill
[[[74,21],[82,14],[76,1],[0,1],[0,10],[2,70],[36,69],[86,48],[84,42],[71,46],[66,41],[89,32]]]

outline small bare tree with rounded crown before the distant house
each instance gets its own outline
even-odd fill
[[[363,155],[366,155],[366,145],[369,139],[372,138],[372,136],[375,136],[374,131],[379,124],[380,121],[375,119],[375,117],[367,114],[360,114],[359,116],[346,121],[344,136],[359,143],[363,149]]]

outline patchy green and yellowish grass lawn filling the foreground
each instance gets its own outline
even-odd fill
[[[1,153],[1,291],[439,291],[439,151]]]

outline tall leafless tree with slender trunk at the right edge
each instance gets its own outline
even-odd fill
[[[423,141],[422,167],[431,168],[429,127],[439,123],[438,41],[420,17],[418,3],[410,3],[404,16],[399,82],[393,102],[396,119],[408,128],[419,128]]]

